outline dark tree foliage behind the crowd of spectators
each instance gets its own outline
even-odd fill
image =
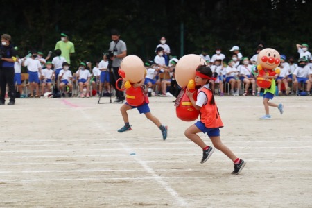
[[[304,0],[1,0],[1,33],[12,35],[19,53],[30,49],[53,51],[62,31],[75,44],[73,65],[101,60],[116,28],[128,54],[153,59],[155,46],[165,35],[172,55],[183,52],[210,55],[220,46],[226,55],[238,45],[253,55],[257,42],[280,53],[295,55],[295,44],[312,44],[312,1]],[[181,26],[184,26],[183,33]],[[184,34],[181,42],[181,34]],[[181,47],[183,46],[183,51]]]

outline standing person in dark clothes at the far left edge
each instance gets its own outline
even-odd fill
[[[15,87],[14,87],[14,62],[16,51],[11,44],[11,36],[8,34],[1,35],[1,67],[0,67],[0,105],[4,105],[6,100],[6,85],[8,85],[8,95],[10,102],[8,105],[15,104]]]

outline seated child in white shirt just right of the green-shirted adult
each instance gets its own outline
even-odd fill
[[[90,86],[89,86],[89,81],[91,77],[91,73],[88,69],[85,69],[86,64],[84,62],[80,62],[79,69],[76,73],[76,76],[78,78],[78,85],[79,85],[79,91],[80,91],[80,98],[84,98],[85,96],[87,98],[90,97],[89,92],[90,92]],[[83,94],[83,87],[87,89],[87,94]]]

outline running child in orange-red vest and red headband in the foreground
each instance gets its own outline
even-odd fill
[[[214,101],[214,94],[209,88],[209,81],[213,79],[212,71],[209,67],[205,65],[198,66],[195,76],[195,83],[197,86],[200,86],[200,89],[198,89],[197,101],[193,98],[194,92],[190,92],[189,89],[187,89],[187,96],[192,105],[200,111],[200,121],[197,121],[187,128],[184,135],[202,148],[203,155],[200,163],[204,163],[209,159],[212,153],[214,153],[214,148],[207,146],[197,134],[199,132],[207,133],[214,147],[223,152],[234,162],[234,171],[232,174],[239,174],[243,170],[246,162],[236,157],[232,150],[225,146],[220,139],[219,128],[223,127],[223,122]]]

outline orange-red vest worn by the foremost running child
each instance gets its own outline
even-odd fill
[[[205,87],[202,87],[202,89],[200,89],[200,92],[205,93],[205,95],[207,96],[207,103],[202,105],[202,107],[200,108],[200,121],[202,121],[202,123],[205,123],[205,126],[207,128],[223,127],[223,123],[216,103],[214,105],[210,104],[212,92],[210,91],[210,89],[207,89]]]

